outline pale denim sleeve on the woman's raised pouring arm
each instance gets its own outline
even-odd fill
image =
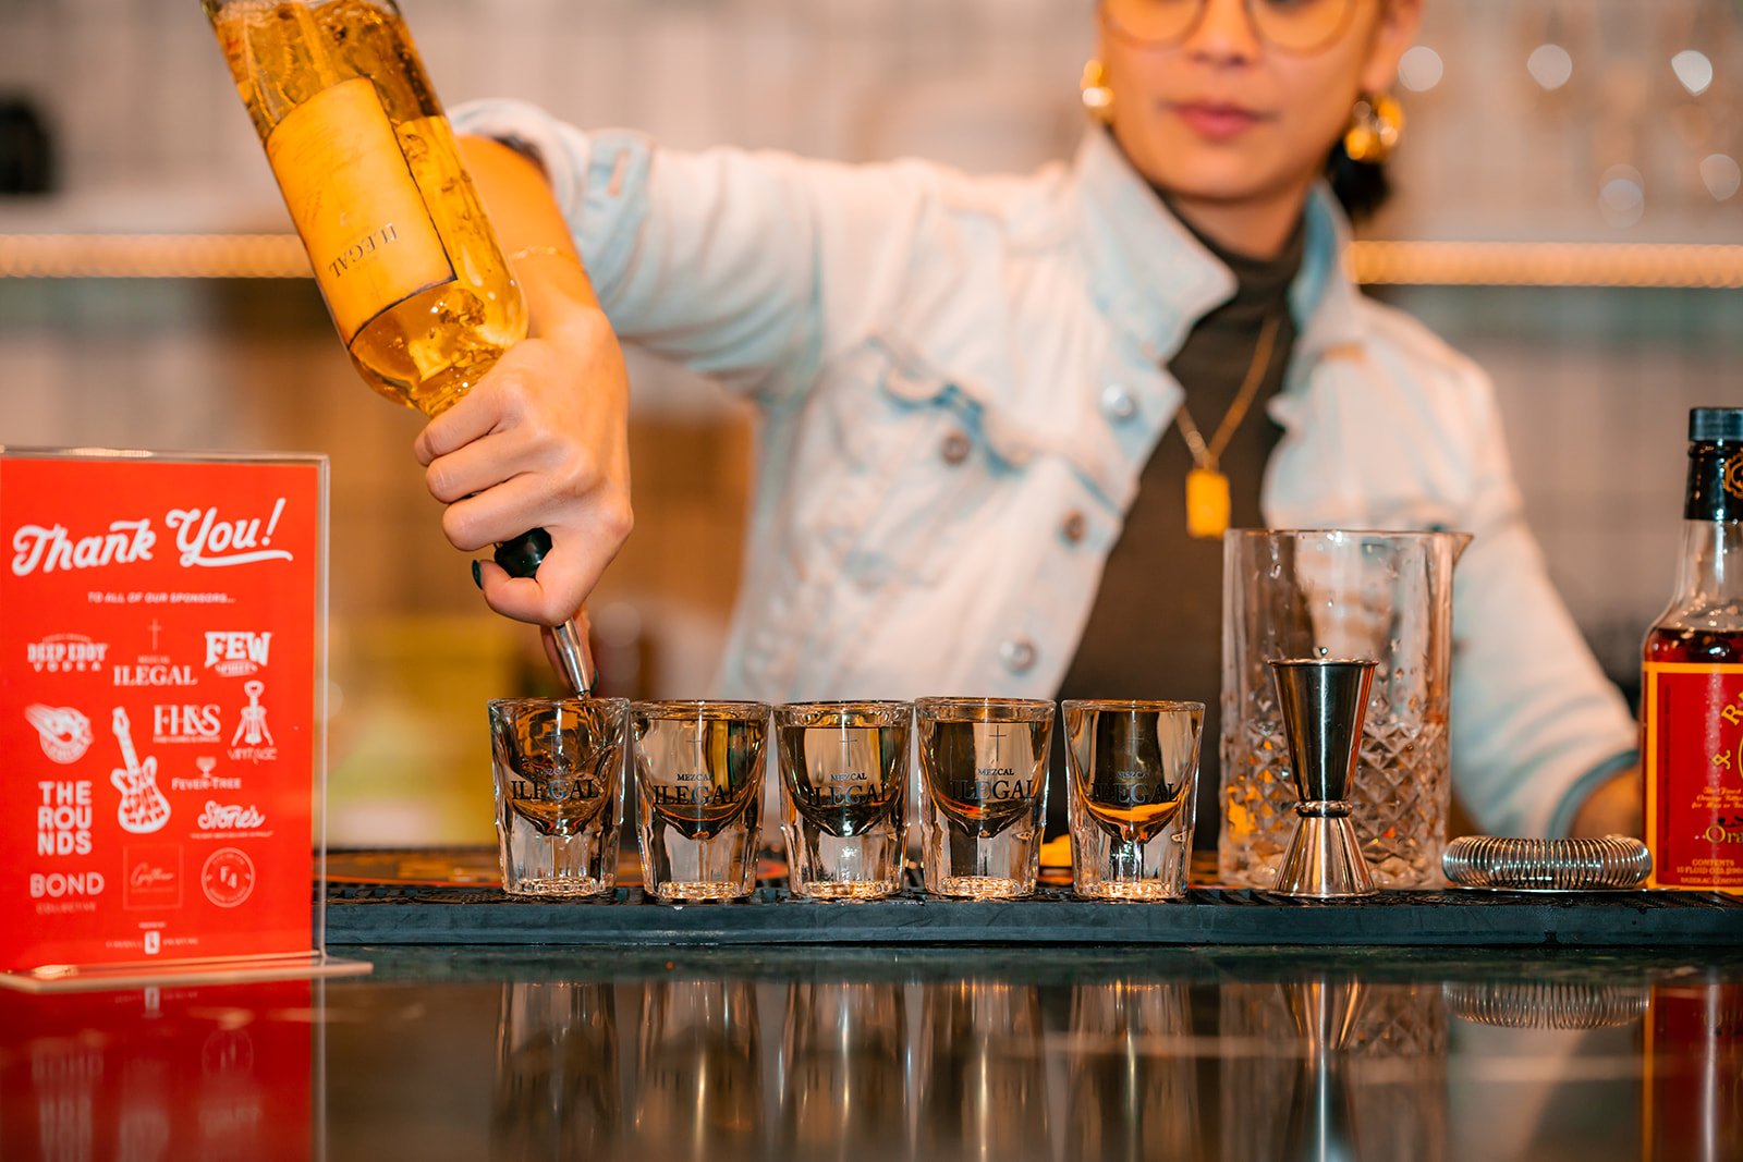
[[[462,106],[455,127],[544,166],[622,340],[765,401],[868,334],[915,253],[919,166],[657,150],[516,101]]]

